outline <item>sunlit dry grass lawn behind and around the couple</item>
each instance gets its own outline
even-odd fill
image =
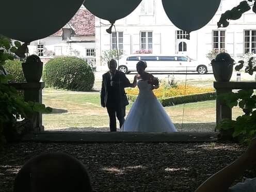
[[[52,114],[43,115],[45,130],[108,127],[107,111],[100,106],[99,92],[43,89],[43,103],[54,108]],[[131,106],[132,103],[126,108],[126,114]],[[165,107],[165,110],[181,131],[183,105]],[[234,118],[240,114],[239,108],[233,109]],[[185,104],[183,123],[182,131],[212,131],[215,127],[215,101]]]

